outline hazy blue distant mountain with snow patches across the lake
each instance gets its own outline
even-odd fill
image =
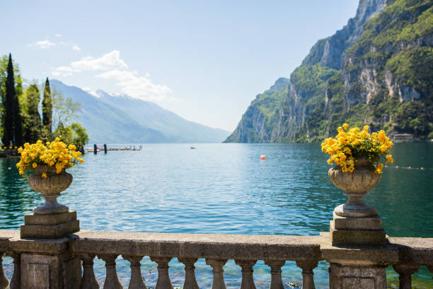
[[[193,123],[167,111],[156,103],[125,94],[87,92],[62,81],[50,86],[81,103],[76,121],[86,128],[90,142],[221,142],[229,132]]]

